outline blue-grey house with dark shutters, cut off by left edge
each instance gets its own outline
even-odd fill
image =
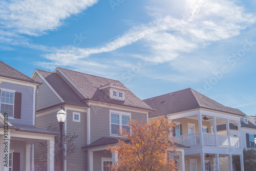
[[[53,171],[54,137],[58,133],[35,127],[36,90],[40,82],[2,61],[0,82],[0,170],[34,170],[34,144],[47,141],[46,169]]]

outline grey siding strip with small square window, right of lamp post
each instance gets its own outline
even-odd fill
[[[73,122],[73,112],[80,113],[80,122]],[[87,113],[67,110],[67,132],[78,135],[74,140],[77,149],[68,156],[67,170],[82,171],[87,167],[87,153],[81,148],[87,144]]]

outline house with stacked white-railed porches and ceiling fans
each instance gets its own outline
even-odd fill
[[[245,114],[224,106],[193,89],[184,89],[143,100],[156,111],[150,120],[165,116],[175,123],[175,142],[188,146],[183,161],[176,154],[180,170],[232,170],[232,156],[238,155],[243,167],[243,145],[240,118]],[[230,135],[230,123],[238,126],[236,136]],[[219,125],[225,131],[218,132]],[[243,170],[243,169],[242,169]]]

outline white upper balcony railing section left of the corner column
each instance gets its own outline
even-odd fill
[[[185,146],[195,146],[199,145],[199,133],[181,135],[174,137],[176,143],[185,145]]]

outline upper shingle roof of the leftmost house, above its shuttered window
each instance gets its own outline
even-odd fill
[[[29,76],[19,72],[18,70],[12,68],[11,66],[7,65],[1,60],[0,60],[0,76],[40,84],[40,82],[37,82],[34,79],[30,78]]]

